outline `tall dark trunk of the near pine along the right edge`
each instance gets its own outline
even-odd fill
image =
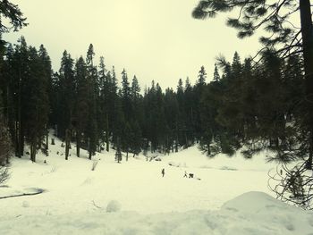
[[[313,158],[313,27],[309,0],[300,0],[300,22],[305,72],[305,88],[309,128],[309,159],[307,167],[312,169]]]

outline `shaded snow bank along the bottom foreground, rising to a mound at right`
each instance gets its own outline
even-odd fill
[[[235,197],[218,211],[138,214],[105,213],[0,217],[2,234],[214,234],[214,235],[309,235],[311,212],[288,206],[262,192]]]

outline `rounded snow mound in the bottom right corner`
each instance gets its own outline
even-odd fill
[[[312,230],[312,225],[308,224],[312,221],[309,219],[311,213],[263,192],[235,197],[222,206],[221,212],[233,217],[228,230],[238,231],[236,234],[246,234],[245,231],[251,234],[309,234]]]

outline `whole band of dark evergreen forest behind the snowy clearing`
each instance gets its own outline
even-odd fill
[[[104,57],[97,64],[91,44],[76,61],[64,51],[58,72],[44,46],[37,50],[21,38],[4,49],[0,88],[16,156],[27,143],[36,161],[38,149],[47,152],[51,128],[65,142],[66,159],[72,141],[77,156],[83,148],[89,159],[110,145],[126,158],[148,150],[169,154],[196,142],[210,156],[233,155],[244,147],[251,157],[270,148],[290,161],[309,151],[297,55],[286,61],[267,50],[252,63],[235,53],[232,63],[219,60],[222,75],[216,66],[208,83],[202,66],[193,86],[187,78],[163,91],[152,81],[141,92],[136,76],[130,79],[125,70],[119,76]]]

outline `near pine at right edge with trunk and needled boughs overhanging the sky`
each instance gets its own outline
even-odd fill
[[[238,37],[245,38],[253,35],[258,29],[264,28],[270,36],[261,36],[263,48],[272,48],[272,53],[280,58],[301,55],[305,73],[305,96],[303,104],[303,125],[301,129],[307,132],[303,141],[308,143],[307,168],[312,169],[313,161],[313,23],[311,4],[309,0],[284,0],[273,4],[271,1],[233,1],[225,0],[222,4],[215,0],[199,1],[192,15],[198,19],[214,17],[216,13],[225,13],[239,8],[239,17],[228,18],[227,24],[238,29]],[[300,30],[290,23],[293,15],[300,14]],[[266,54],[264,54],[266,55]],[[306,111],[304,111],[306,110]],[[302,141],[300,140],[300,142]]]

